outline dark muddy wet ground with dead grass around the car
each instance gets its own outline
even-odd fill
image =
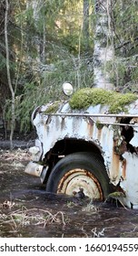
[[[138,210],[46,194],[27,149],[0,151],[0,237],[138,237]]]

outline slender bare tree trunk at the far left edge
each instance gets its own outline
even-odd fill
[[[10,133],[10,148],[13,149],[13,135],[15,130],[15,91],[12,86],[11,75],[10,75],[10,62],[9,62],[9,46],[8,46],[8,11],[9,11],[9,3],[8,0],[5,0],[5,52],[6,52],[6,71],[7,71],[7,80],[8,86],[12,95],[12,120],[11,120],[11,133]]]

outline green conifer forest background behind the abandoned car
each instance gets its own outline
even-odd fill
[[[104,66],[97,46],[112,46]],[[98,65],[113,90],[137,93],[138,1],[0,0],[0,59],[0,125],[13,133],[32,129],[35,107],[64,99],[65,81],[96,86]]]

